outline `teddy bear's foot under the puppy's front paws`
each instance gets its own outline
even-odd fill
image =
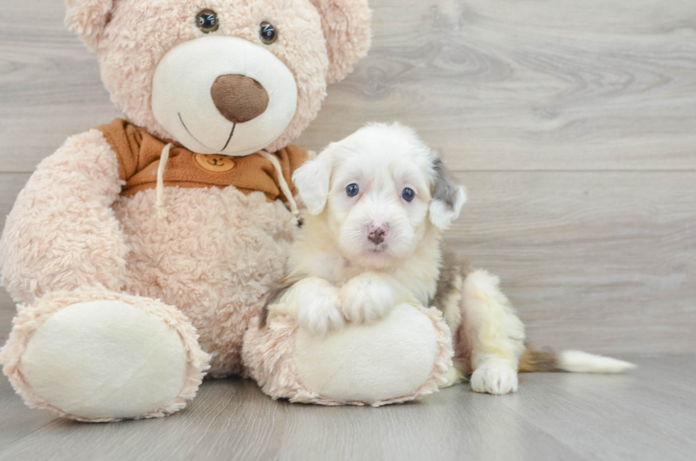
[[[252,321],[247,372],[275,399],[323,405],[394,404],[437,391],[452,365],[450,329],[435,308],[400,304],[380,321],[312,335],[288,316]]]

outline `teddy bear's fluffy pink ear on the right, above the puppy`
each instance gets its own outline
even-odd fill
[[[367,0],[310,0],[322,18],[329,52],[327,82],[338,82],[370,48],[372,11]]]

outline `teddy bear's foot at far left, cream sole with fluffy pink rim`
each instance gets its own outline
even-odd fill
[[[80,421],[178,411],[195,396],[208,358],[177,309],[98,288],[20,306],[0,354],[28,406]]]

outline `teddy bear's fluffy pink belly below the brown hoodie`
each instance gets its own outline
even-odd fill
[[[296,226],[281,201],[234,187],[166,187],[167,216],[156,191],[120,197],[114,211],[128,236],[124,291],[177,306],[212,352],[213,377],[241,372],[246,325],[283,277]]]

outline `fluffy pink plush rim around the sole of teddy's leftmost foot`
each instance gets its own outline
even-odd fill
[[[186,401],[195,396],[198,386],[208,368],[207,361],[209,357],[200,349],[197,343],[198,335],[196,334],[195,328],[192,328],[190,322],[180,311],[172,306],[166,306],[160,301],[139,296],[116,294],[104,288],[96,287],[75,289],[73,291],[56,291],[38,299],[33,306],[19,306],[18,315],[13,321],[10,338],[0,351],[0,362],[3,365],[3,372],[9,378],[12,387],[23,397],[26,404],[33,408],[48,409],[58,413],[60,416],[77,419],[79,421],[113,421],[119,419],[119,417],[113,415],[85,417],[66,413],[62,409],[53,406],[53,404],[45,400],[40,394],[37,394],[23,372],[22,357],[36,331],[38,331],[44,323],[49,321],[55,313],[72,305],[88,301],[121,301],[130,306],[134,306],[134,308],[143,311],[148,316],[162,321],[179,336],[183,345],[186,367],[183,382],[178,394],[158,408],[127,416],[153,418],[183,409]],[[80,386],[80,383],[76,383],[76,385]],[[95,398],[97,397],[98,396],[95,396]]]

